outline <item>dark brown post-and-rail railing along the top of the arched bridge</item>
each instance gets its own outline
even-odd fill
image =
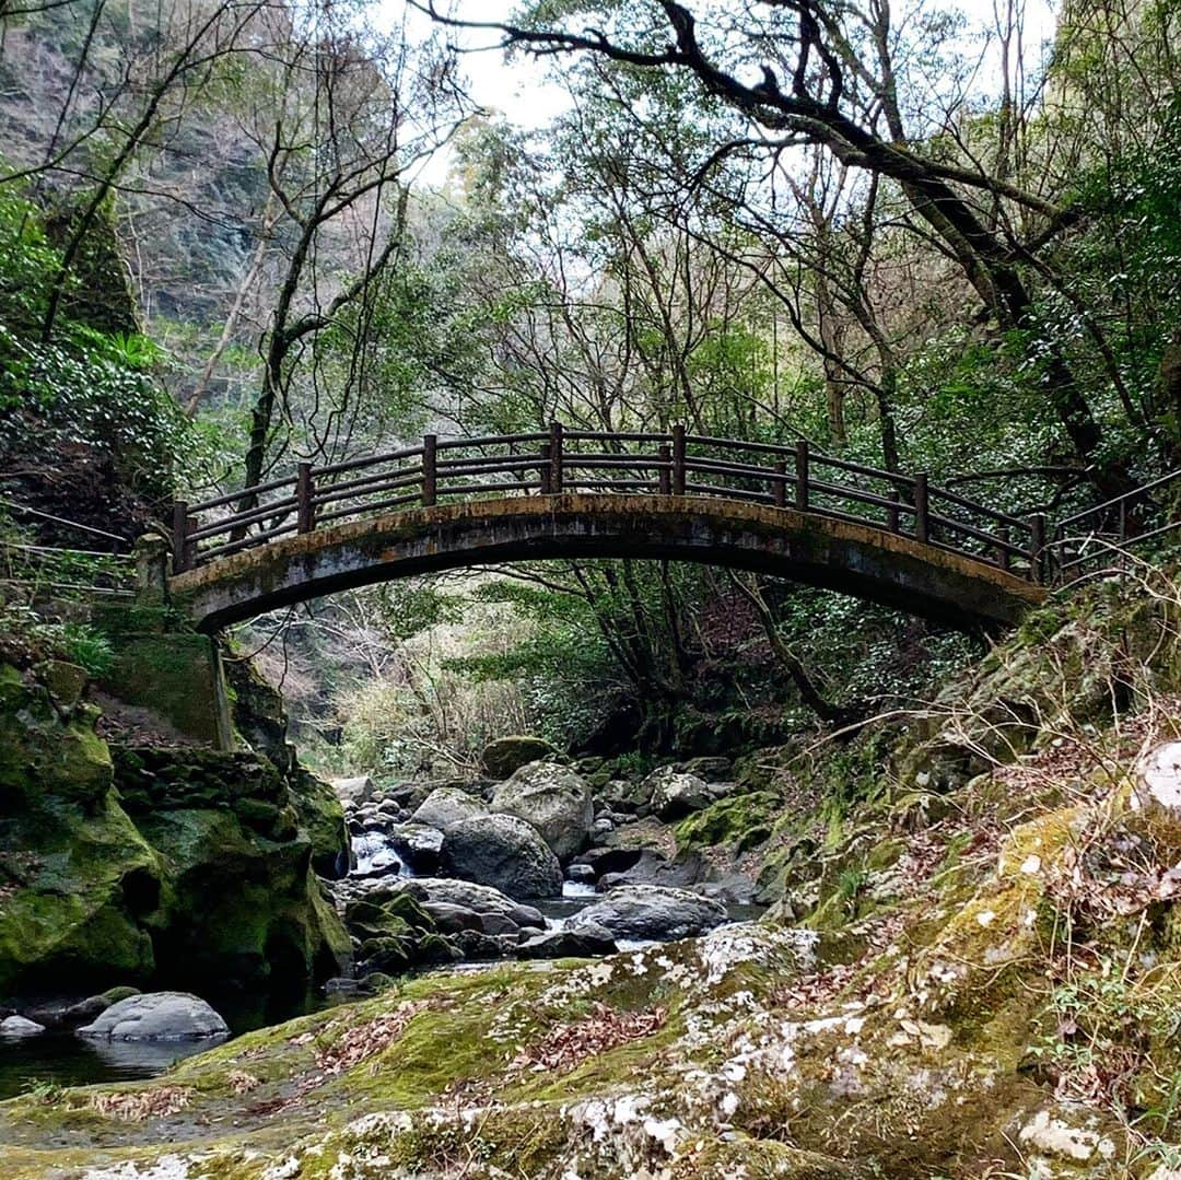
[[[901,475],[813,450],[686,432],[568,430],[439,439],[315,467],[175,506],[172,569],[344,520],[446,500],[560,493],[713,496],[872,524],[1033,581],[1045,521],[1018,517]]]

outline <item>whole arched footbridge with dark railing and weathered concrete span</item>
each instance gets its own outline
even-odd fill
[[[1040,517],[795,446],[566,430],[438,439],[176,506],[169,593],[203,631],[334,591],[541,558],[667,558],[966,628],[1038,602]]]

